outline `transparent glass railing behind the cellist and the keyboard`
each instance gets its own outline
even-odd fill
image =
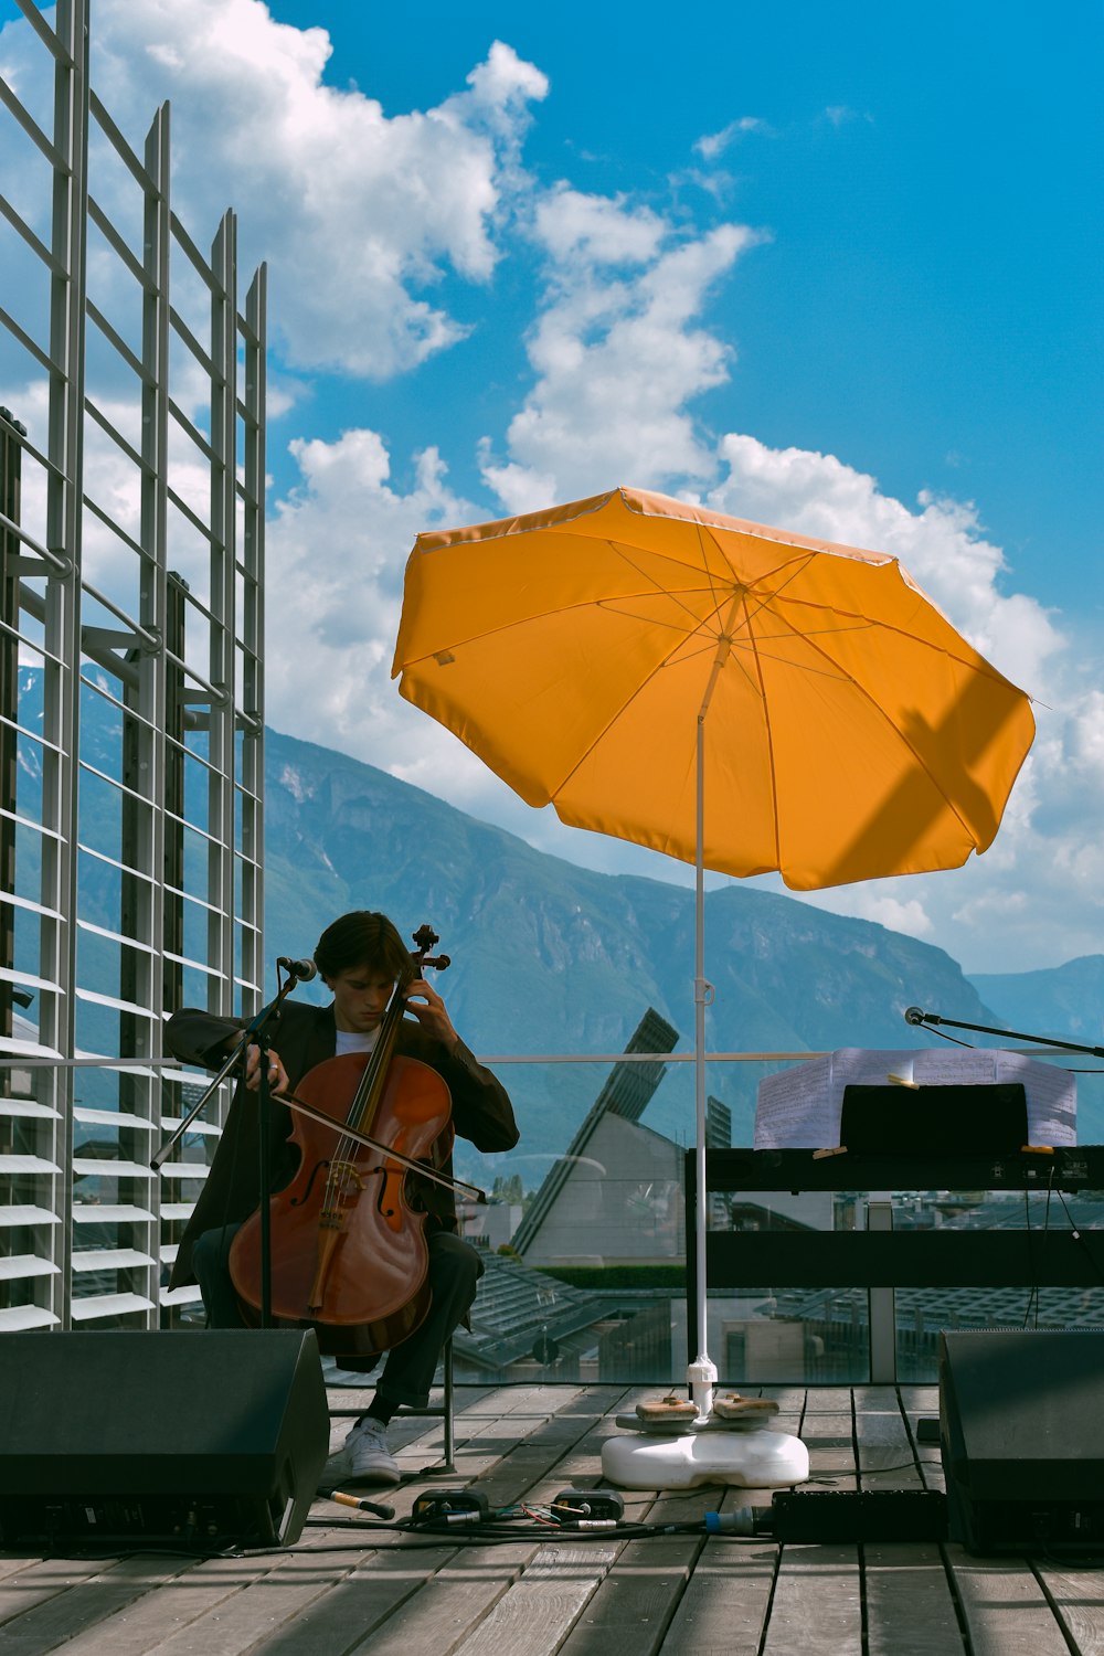
[[[712,1057],[710,1146],[751,1146],[760,1080],[799,1058]],[[694,1330],[694,1310],[687,1313],[685,1186],[685,1153],[695,1134],[690,1055],[490,1055],[488,1063],[511,1093],[521,1141],[493,1156],[457,1141],[457,1174],[487,1194],[487,1202],[458,1204],[460,1232],[478,1249],[485,1272],[472,1326],[454,1343],[457,1379],[682,1384],[687,1330]],[[25,1095],[33,1073],[20,1070]],[[12,1075],[3,1071],[5,1091]],[[157,1133],[177,1119],[170,1108],[185,1108],[187,1093],[189,1085],[177,1081],[166,1095],[164,1123],[151,1129],[121,1108],[118,1068],[111,1071],[104,1061],[94,1073],[88,1066],[79,1071],[71,1204],[55,1220],[55,1176],[35,1166],[41,1123],[18,1114],[26,1096],[0,1101],[0,1113],[5,1106],[12,1111],[0,1207],[8,1212],[10,1257],[23,1260],[0,1283],[0,1321],[8,1313],[8,1326],[33,1325],[50,1268],[43,1227],[58,1220],[71,1225],[70,1300],[78,1323],[202,1321],[197,1293],[170,1293],[167,1278],[217,1143],[214,1129],[195,1123],[161,1179],[147,1171]],[[1079,1123],[1084,1143],[1104,1141],[1097,1076],[1079,1076]],[[743,1254],[756,1262],[753,1280],[743,1268],[738,1282],[710,1272],[708,1351],[723,1386],[854,1384],[887,1378],[887,1365],[889,1378],[930,1383],[943,1328],[1104,1323],[1104,1270],[1094,1265],[1104,1260],[1094,1237],[1104,1229],[1101,1192],[1044,1184],[1034,1191],[963,1191],[932,1182],[915,1189],[904,1187],[905,1181],[900,1189],[869,1191],[842,1172],[836,1184],[831,1191],[708,1192],[710,1247],[722,1239],[737,1250],[725,1259]],[[814,1273],[803,1283],[781,1270],[771,1280],[775,1255],[790,1259],[804,1240],[814,1259],[818,1237],[866,1230],[874,1207],[877,1222],[892,1225],[894,1240],[932,1235],[947,1247],[948,1239],[962,1237],[963,1260],[972,1235],[1018,1232],[1034,1249],[1025,1255],[1028,1264],[1039,1268],[1026,1270],[1023,1283],[1000,1287],[972,1285],[965,1265],[960,1282],[938,1287],[824,1283]],[[1049,1239],[1074,1234],[1086,1239],[1084,1280],[1048,1280]],[[1076,1267],[1063,1268],[1078,1275]]]

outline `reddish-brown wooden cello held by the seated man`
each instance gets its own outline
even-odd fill
[[[412,1167],[455,1186],[435,1169],[452,1149],[452,1098],[444,1078],[396,1053],[406,989],[434,957],[435,932],[422,926],[409,974],[396,984],[371,1053],[341,1053],[310,1070],[295,1093],[290,1141],[300,1166],[270,1197],[271,1312],[310,1325],[319,1350],[387,1351],[425,1320],[430,1305],[427,1212],[407,1191]],[[230,1247],[230,1277],[247,1320],[262,1305],[260,1211]]]

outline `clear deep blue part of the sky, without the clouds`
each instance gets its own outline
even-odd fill
[[[659,7],[631,26],[621,7],[576,3],[271,12],[324,23],[326,78],[387,114],[444,99],[508,41],[550,78],[525,146],[545,185],[771,237],[712,300],[738,363],[695,404],[705,424],[738,412],[765,442],[826,449],[899,498],[977,500],[1013,575],[1046,603],[1084,603],[1104,503],[1099,5],[1064,7],[1061,28],[1025,3],[707,5],[680,33]],[[746,119],[761,126],[707,167],[702,136]],[[518,394],[531,300],[513,275],[495,283],[502,315],[425,374],[458,452],[473,384],[488,421]],[[362,417],[364,389],[348,392],[334,419]],[[425,439],[419,402],[367,397],[401,449]]]

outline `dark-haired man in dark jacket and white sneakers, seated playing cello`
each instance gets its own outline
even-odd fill
[[[333,994],[328,1007],[285,1002],[268,1052],[271,1090],[270,1189],[281,1191],[296,1174],[300,1153],[288,1143],[291,1110],[280,1093],[295,1093],[308,1071],[343,1053],[371,1053],[379,1038],[396,984],[406,984],[406,1012],[397,1025],[396,1053],[427,1063],[452,1095],[452,1126],[480,1151],[511,1149],[518,1143],[513,1106],[502,1083],[475,1061],[452,1027],[445,1004],[424,979],[410,975],[410,952],[396,926],[367,909],[343,914],[318,939],[314,964]],[[237,1047],[243,1023],[185,1007],[167,1023],[166,1042],[182,1063],[218,1068]],[[212,1328],[245,1323],[230,1277],[230,1247],[260,1202],[258,1126],[255,1095],[260,1050],[248,1048],[210,1176],[187,1222],[172,1287],[197,1282]],[[450,1163],[442,1169],[452,1172]],[[425,1212],[430,1308],[425,1320],[387,1353],[367,1413],[326,1464],[328,1479],[397,1484],[399,1467],[387,1449],[387,1423],[401,1404],[424,1408],[442,1348],[467,1317],[483,1272],[475,1249],[457,1232],[449,1191],[410,1176],[412,1199]],[[356,1335],[349,1331],[349,1350]],[[371,1348],[369,1348],[371,1350]],[[346,1366],[356,1358],[339,1358]],[[359,1366],[372,1368],[374,1360]]]

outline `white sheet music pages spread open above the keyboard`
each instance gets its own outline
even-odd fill
[[[1003,1048],[841,1047],[826,1058],[811,1058],[760,1081],[755,1149],[829,1149],[839,1144],[844,1086],[886,1086],[894,1071],[909,1070],[917,1086],[1023,1081],[1028,1143],[1078,1143],[1078,1080],[1068,1070]],[[909,1108],[910,1098],[917,1098],[914,1090],[902,1086],[902,1108]],[[920,1131],[917,1118],[917,1138]]]

